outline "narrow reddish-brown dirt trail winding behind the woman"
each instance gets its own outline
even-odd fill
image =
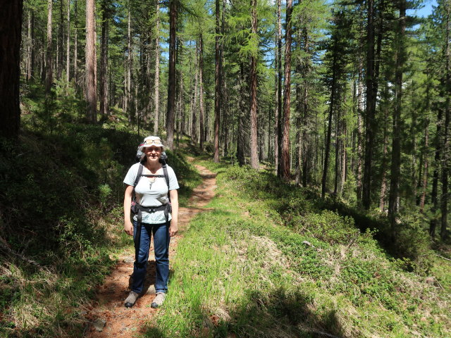
[[[193,161],[193,158],[188,158],[188,160]],[[213,198],[216,188],[216,175],[201,165],[195,165],[195,167],[199,170],[203,182],[194,189],[188,203],[189,207],[179,208],[179,233],[180,230],[186,229],[194,215],[206,210],[203,207]],[[171,244],[169,245],[170,264],[173,261],[179,239],[180,234],[171,237]],[[142,332],[143,324],[158,311],[158,309],[150,307],[155,298],[155,258],[153,251],[152,245],[149,263],[147,264],[147,277],[144,282],[144,295],[137,299],[132,308],[125,308],[124,306],[124,300],[130,290],[129,284],[133,272],[135,251],[132,244],[130,243],[130,249],[119,256],[118,264],[113,272],[106,277],[104,284],[99,287],[94,308],[90,309],[86,315],[87,320],[89,320],[89,327],[87,327],[85,337],[136,337],[140,333],[144,333]]]

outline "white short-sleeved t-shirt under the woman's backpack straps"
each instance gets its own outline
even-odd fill
[[[169,165],[166,165],[168,168],[168,177],[169,177],[169,190],[178,189],[178,181],[177,177],[175,177],[175,173],[173,168]],[[140,163],[135,163],[128,170],[127,175],[125,175],[124,183],[128,185],[135,184],[136,175],[138,173],[138,169],[140,168]],[[151,175],[149,170],[144,167],[142,170],[143,175]],[[155,175],[164,175],[163,168],[159,169]],[[154,182],[152,182],[154,181]],[[168,203],[168,184],[166,184],[165,177],[144,177],[141,176],[138,184],[135,187],[136,201],[142,206],[151,207],[151,206],[162,206],[163,204]],[[133,218],[137,220],[137,215]],[[169,220],[171,220],[171,214],[169,214]],[[154,213],[146,213],[145,211],[142,213],[142,223],[149,224],[161,224],[166,223],[166,217],[164,216],[164,211],[155,211]]]

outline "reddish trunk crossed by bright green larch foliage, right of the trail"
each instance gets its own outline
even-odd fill
[[[252,8],[252,35],[257,35],[257,0],[251,0]],[[254,169],[259,168],[259,155],[257,154],[257,56],[251,55],[251,106],[250,106],[250,121],[251,121],[251,166]]]

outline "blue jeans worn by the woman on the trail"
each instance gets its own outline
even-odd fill
[[[137,222],[133,222],[133,238],[137,234]],[[168,291],[169,276],[169,223],[147,224],[141,223],[140,252],[137,261],[133,265],[132,291],[140,294],[144,287],[144,279],[147,271],[147,261],[149,260],[150,239],[154,234],[155,253],[155,291]]]

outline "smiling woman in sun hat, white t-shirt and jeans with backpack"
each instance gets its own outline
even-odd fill
[[[135,263],[133,265],[132,290],[125,299],[125,306],[130,308],[141,294],[146,277],[149,258],[150,239],[154,235],[154,253],[156,263],[155,291],[156,298],[152,308],[163,303],[168,291],[169,275],[169,239],[178,231],[178,181],[174,170],[165,165],[160,157],[164,151],[161,139],[149,136],[140,146],[142,161],[132,165],[125,176],[124,196],[124,230],[135,241]],[[142,175],[139,175],[143,165]],[[165,171],[167,175],[165,175]],[[166,180],[168,178],[168,180]],[[137,182],[135,184],[135,182]],[[135,186],[136,185],[136,186]],[[133,191],[135,186],[135,192]],[[130,220],[132,196],[135,193],[134,211],[137,215]],[[168,199],[168,195],[169,198]],[[172,206],[172,212],[171,212]]]

